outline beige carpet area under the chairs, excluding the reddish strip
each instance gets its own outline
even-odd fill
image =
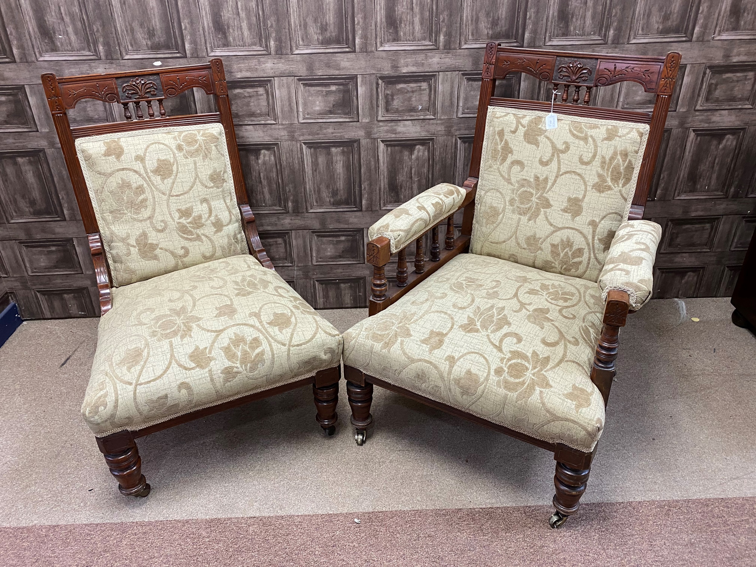
[[[621,334],[586,503],[756,496],[756,338],[727,299],[682,305],[653,301]],[[324,311],[341,330],[365,314]],[[0,525],[550,503],[549,453],[378,388],[364,447],[343,388],[333,438],[299,389],[140,439],[153,491],[122,497],[79,417],[97,322],[29,322],[0,349]]]

